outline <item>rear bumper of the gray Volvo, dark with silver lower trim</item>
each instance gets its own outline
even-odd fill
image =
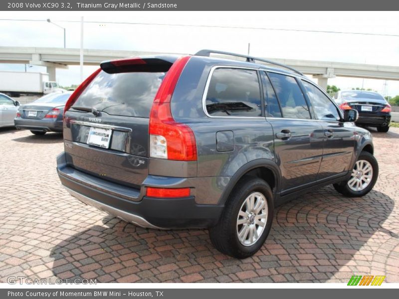
[[[208,228],[217,223],[223,210],[223,206],[219,205],[197,204],[194,196],[138,198],[137,196],[144,193],[141,190],[110,183],[69,167],[64,153],[57,157],[57,172],[66,190],[81,202],[142,227]],[[164,179],[159,179],[159,187],[162,187]],[[142,189],[145,187],[142,186]],[[132,200],[129,195],[132,195]]]

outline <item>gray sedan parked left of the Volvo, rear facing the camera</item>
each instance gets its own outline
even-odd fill
[[[64,107],[71,94],[55,92],[19,106],[14,119],[15,127],[19,130],[30,130],[34,135],[62,132]]]

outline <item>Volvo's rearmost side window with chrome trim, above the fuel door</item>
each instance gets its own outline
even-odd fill
[[[260,87],[255,70],[217,68],[206,94],[206,111],[211,116],[262,115]]]

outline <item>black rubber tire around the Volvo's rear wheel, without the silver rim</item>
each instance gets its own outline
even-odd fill
[[[237,217],[241,205],[253,192],[264,195],[267,202],[267,219],[259,239],[250,246],[244,246],[237,236]],[[262,179],[246,177],[231,192],[218,224],[209,229],[209,237],[213,246],[220,252],[237,259],[254,255],[264,244],[273,221],[273,192]]]

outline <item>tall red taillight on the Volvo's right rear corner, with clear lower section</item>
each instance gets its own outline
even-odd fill
[[[197,160],[197,144],[191,128],[172,117],[171,98],[190,56],[176,60],[155,96],[150,113],[150,156],[169,160]]]

